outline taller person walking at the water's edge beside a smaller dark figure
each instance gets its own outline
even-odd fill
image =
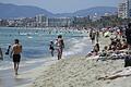
[[[63,48],[64,48],[64,42],[63,42],[62,36],[59,35],[57,39],[58,60],[60,60],[62,57]]]

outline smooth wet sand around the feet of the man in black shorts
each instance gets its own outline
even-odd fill
[[[14,75],[13,71],[13,64],[12,69],[8,70],[0,70],[0,87],[19,87],[26,84],[29,84],[36,78],[39,67],[50,65],[55,62],[55,60],[45,61],[45,62],[38,62],[38,63],[32,63],[26,66],[22,65],[19,70],[19,75]],[[37,71],[36,71],[37,69]],[[33,74],[32,74],[33,72]]]

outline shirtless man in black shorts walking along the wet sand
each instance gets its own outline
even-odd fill
[[[19,71],[21,52],[22,52],[22,45],[19,42],[19,39],[15,39],[11,50],[11,58],[13,58],[15,75],[17,75],[17,71]]]

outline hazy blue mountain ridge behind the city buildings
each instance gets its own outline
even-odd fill
[[[45,14],[49,17],[72,17],[72,16],[87,16],[95,13],[104,15],[105,13],[115,14],[117,8],[115,7],[94,7],[90,9],[79,10],[73,13],[51,13],[45,9],[33,5],[15,5],[12,3],[0,3],[0,18],[11,17],[34,17],[38,14]]]

